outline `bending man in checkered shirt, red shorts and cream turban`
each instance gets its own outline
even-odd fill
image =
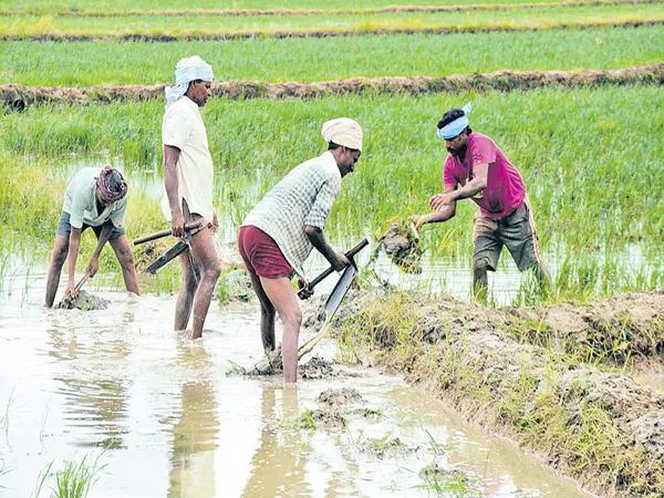
[[[238,248],[260,301],[260,329],[268,357],[274,354],[274,312],[283,324],[283,380],[298,380],[298,335],[302,312],[290,283],[293,271],[304,284],[302,263],[312,248],[332,268],[350,264],[325,240],[323,228],[341,190],[341,178],[353,173],[362,153],[362,128],[340,117],[323,125],[328,152],[292,169],[249,212],[240,228]],[[311,295],[309,293],[305,297]]]

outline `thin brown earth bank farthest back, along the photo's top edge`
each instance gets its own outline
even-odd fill
[[[71,18],[116,18],[125,15],[347,15],[347,14],[380,14],[406,12],[464,12],[476,10],[521,10],[521,9],[558,9],[560,7],[604,7],[624,4],[652,4],[662,0],[589,0],[573,2],[537,2],[537,3],[478,3],[474,6],[388,6],[366,9],[210,9],[210,10],[49,10],[51,15]],[[0,15],[41,15],[43,9],[4,9]]]

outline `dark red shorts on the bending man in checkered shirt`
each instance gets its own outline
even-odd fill
[[[274,239],[252,225],[240,227],[238,249],[247,271],[259,277],[282,279],[293,271]]]

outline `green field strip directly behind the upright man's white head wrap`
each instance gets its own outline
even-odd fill
[[[663,25],[473,35],[191,41],[175,49],[172,43],[145,42],[0,42],[0,83],[169,83],[177,60],[194,53],[212,64],[218,80],[262,82],[447,76],[504,69],[608,70],[664,61],[661,40]],[[401,56],[405,52],[408,56]]]

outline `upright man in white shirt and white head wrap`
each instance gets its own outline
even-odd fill
[[[217,228],[212,207],[212,158],[198,111],[212,95],[212,68],[198,55],[181,59],[175,69],[175,86],[166,89],[167,104],[162,123],[164,215],[170,221],[173,235],[180,238],[186,235],[185,222],[204,220],[203,228],[190,232],[190,250],[178,257],[181,287],[175,310],[175,330],[187,328],[194,308],[193,339],[203,335],[215,283],[221,271],[212,240]]]

